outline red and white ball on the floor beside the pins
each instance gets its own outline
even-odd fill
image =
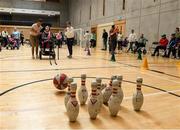
[[[58,74],[53,79],[53,84],[58,90],[64,90],[68,86],[68,77],[66,74]]]

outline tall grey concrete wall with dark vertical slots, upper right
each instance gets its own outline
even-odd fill
[[[161,34],[170,35],[180,26],[180,0],[69,0],[69,14],[73,26],[90,29],[91,26],[126,20],[126,35],[131,29],[149,39],[149,46]],[[90,13],[91,8],[91,13]]]

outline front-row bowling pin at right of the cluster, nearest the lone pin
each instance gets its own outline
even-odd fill
[[[112,95],[108,101],[108,108],[109,108],[111,116],[117,116],[119,109],[120,109],[121,99],[117,95],[118,94],[118,85],[119,85],[119,81],[113,80]]]

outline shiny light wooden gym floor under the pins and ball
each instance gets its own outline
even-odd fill
[[[74,47],[68,59],[65,46],[55,65],[48,57],[31,59],[31,48],[0,52],[0,129],[165,129],[180,128],[180,60],[147,56],[149,70],[141,68],[142,61],[134,54],[116,55],[109,61],[108,52],[92,49],[91,56]],[[103,106],[96,120],[89,119],[87,106],[80,106],[77,122],[70,123],[64,106],[65,91],[53,86],[52,78],[60,73],[74,80],[80,87],[81,74],[87,74],[87,88],[93,77],[110,78],[123,75],[124,100],[117,117],[111,117]],[[132,106],[136,78],[143,78],[144,104],[140,112]],[[103,79],[103,83],[109,80]]]

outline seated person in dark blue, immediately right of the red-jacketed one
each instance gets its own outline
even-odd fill
[[[165,51],[164,57],[170,57],[170,54],[172,52],[173,56],[176,57],[176,37],[175,34],[171,34],[171,40],[167,45],[167,50]],[[168,54],[167,54],[168,51]]]

